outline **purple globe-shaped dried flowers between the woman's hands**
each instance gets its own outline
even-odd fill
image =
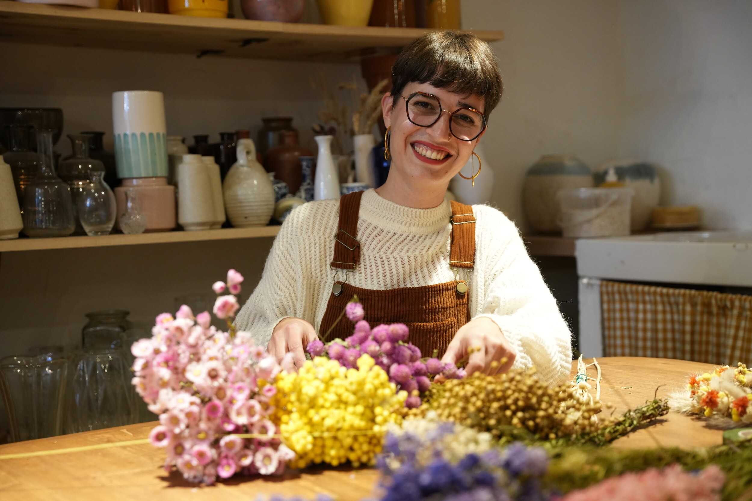
[[[454,364],[442,364],[438,358],[422,359],[420,349],[407,342],[410,335],[407,325],[381,324],[371,329],[371,325],[363,319],[363,305],[356,298],[347,303],[344,314],[355,322],[353,335],[344,341],[333,340],[326,344],[320,340],[311,341],[306,352],[312,357],[326,355],[348,369],[356,367],[360,355],[371,355],[376,364],[387,371],[397,389],[408,392],[406,407],[414,409],[420,406],[420,394],[429,390],[432,377],[465,377],[465,370],[458,369]]]

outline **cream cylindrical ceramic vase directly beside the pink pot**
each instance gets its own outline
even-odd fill
[[[208,230],[214,222],[209,170],[201,155],[183,155],[177,166],[177,222],[186,231]]]

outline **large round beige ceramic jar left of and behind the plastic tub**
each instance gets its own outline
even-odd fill
[[[592,188],[590,168],[575,155],[543,155],[532,164],[523,183],[523,208],[533,230],[559,233],[562,189]]]

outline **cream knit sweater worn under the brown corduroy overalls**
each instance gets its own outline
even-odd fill
[[[514,223],[501,212],[474,205],[475,271],[469,282],[470,315],[496,322],[517,351],[515,367],[535,365],[551,384],[572,367],[570,333],[527,255]],[[448,201],[412,209],[363,194],[358,234],[360,263],[347,283],[369,289],[418,287],[454,279],[449,267],[452,210]],[[238,313],[238,329],[266,346],[282,318],[310,321],[318,330],[332,290],[339,201],[311,202],[285,220],[256,290]]]

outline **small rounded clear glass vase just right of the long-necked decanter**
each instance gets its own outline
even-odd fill
[[[78,194],[78,220],[89,237],[108,235],[115,225],[115,194],[102,180],[104,175],[104,172],[89,171],[89,183]]]

